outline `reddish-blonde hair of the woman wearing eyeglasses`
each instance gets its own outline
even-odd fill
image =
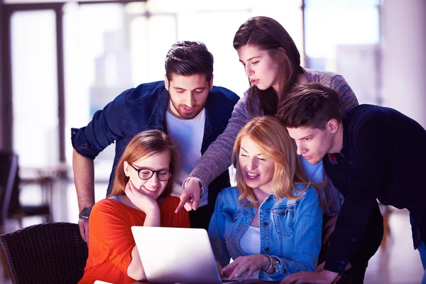
[[[173,189],[174,175],[178,173],[178,148],[167,133],[159,130],[148,130],[136,134],[124,149],[119,163],[116,165],[115,178],[108,197],[124,195],[126,184],[129,182],[129,177],[126,177],[124,173],[124,161],[136,163],[141,158],[148,158],[164,151],[170,153],[169,170],[172,171],[172,177],[168,180],[168,184],[160,196],[170,195]]]

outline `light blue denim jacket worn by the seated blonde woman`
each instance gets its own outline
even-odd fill
[[[297,190],[304,186],[296,185]],[[274,274],[253,273],[262,280],[281,280],[290,273],[314,271],[321,249],[322,209],[317,190],[309,187],[295,192],[299,200],[275,199],[271,193],[260,206],[261,254],[275,256],[280,269]],[[214,258],[226,266],[230,258],[246,256],[239,240],[256,214],[256,207],[244,207],[236,187],[222,190],[209,224],[209,239]],[[251,204],[251,202],[248,202]]]

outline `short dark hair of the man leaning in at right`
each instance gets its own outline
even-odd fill
[[[278,105],[277,116],[288,128],[325,129],[330,119],[342,121],[339,95],[321,84],[295,84]]]

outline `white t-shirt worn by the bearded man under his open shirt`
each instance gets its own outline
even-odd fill
[[[175,173],[173,196],[182,194],[182,182],[190,175],[192,169],[201,158],[202,138],[204,137],[204,123],[206,111],[203,109],[194,119],[178,119],[168,111],[165,112],[167,130],[179,148],[180,173]],[[207,205],[207,195],[200,199],[200,205]]]

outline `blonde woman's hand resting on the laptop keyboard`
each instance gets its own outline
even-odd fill
[[[239,256],[227,266],[222,268],[221,275],[228,276],[229,279],[240,277],[245,271],[246,279],[253,274],[254,271],[262,269],[266,271],[269,267],[269,258],[264,254],[253,254],[251,256]]]

